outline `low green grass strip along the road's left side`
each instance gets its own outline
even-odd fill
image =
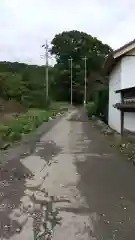
[[[16,114],[10,118],[0,121],[0,148],[5,149],[5,145],[20,140],[25,134],[29,134],[38,128],[43,122],[47,122],[49,117],[54,117],[58,112],[67,110],[62,105],[54,104],[49,110],[29,109],[24,114]]]

